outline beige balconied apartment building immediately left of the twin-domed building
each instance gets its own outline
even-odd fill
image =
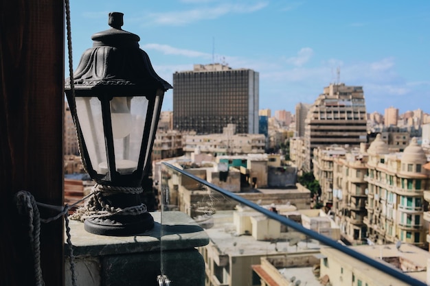
[[[365,146],[314,149],[313,174],[321,187],[321,200],[339,225],[343,241],[352,245],[363,244],[367,237]]]

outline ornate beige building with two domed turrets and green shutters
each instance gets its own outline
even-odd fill
[[[416,138],[404,152],[390,153],[376,136],[367,150],[367,224],[370,241],[378,244],[401,241],[425,246],[428,224],[424,221],[425,190],[430,171],[427,156]]]

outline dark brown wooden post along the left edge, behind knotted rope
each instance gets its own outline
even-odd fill
[[[14,195],[63,205],[64,3],[0,1],[0,285],[34,285]],[[52,211],[44,211],[49,216]],[[64,284],[63,220],[41,228],[45,285]]]

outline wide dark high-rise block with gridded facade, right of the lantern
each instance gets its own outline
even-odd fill
[[[173,74],[173,128],[197,134],[258,134],[259,74],[224,64],[194,64],[193,71]]]

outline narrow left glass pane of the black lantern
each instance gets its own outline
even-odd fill
[[[76,113],[91,165],[100,174],[98,166],[107,160],[100,100],[97,97],[76,97]]]

